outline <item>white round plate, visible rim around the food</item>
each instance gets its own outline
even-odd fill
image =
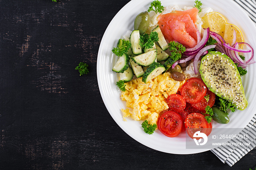
[[[121,109],[126,109],[125,101],[122,101],[121,91],[116,86],[118,81],[117,73],[112,71],[117,57],[113,55],[112,49],[116,47],[118,39],[126,33],[127,30],[133,30],[135,17],[143,11],[147,11],[153,0],[131,0],[126,4],[110,22],[106,29],[101,44],[99,46],[97,58],[97,78],[99,90],[106,108],[114,121],[133,139],[154,150],[172,153],[172,154],[193,154],[204,152],[209,149],[186,149],[185,133],[175,138],[169,138],[163,135],[159,130],[153,135],[144,133],[142,121],[134,121],[127,118],[123,121]],[[168,5],[194,6],[194,0],[161,0],[164,7]],[[204,0],[202,8],[211,7],[214,11],[222,13],[229,23],[235,24],[243,33],[244,41],[248,42],[253,49],[256,49],[256,27],[252,20],[246,15],[236,3],[231,0]],[[244,128],[255,115],[256,91],[255,88],[255,64],[248,66],[248,73],[242,77],[245,96],[248,100],[248,107],[244,111],[230,113],[230,122],[228,124],[213,123],[213,128]],[[113,132],[114,135],[115,132]],[[223,129],[225,134],[225,129]]]

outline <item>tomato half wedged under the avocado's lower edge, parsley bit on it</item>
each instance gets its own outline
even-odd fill
[[[207,101],[206,97],[208,97],[208,101]],[[206,106],[212,107],[214,105],[214,102],[215,102],[215,94],[212,93],[207,88],[206,95],[202,98],[202,100],[199,101],[198,103],[191,104],[191,106],[193,108],[196,108],[196,109],[200,110],[200,111],[204,111]]]

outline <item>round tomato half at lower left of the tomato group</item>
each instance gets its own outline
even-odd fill
[[[167,111],[158,120],[158,128],[168,137],[178,136],[184,126],[182,117],[173,111]]]

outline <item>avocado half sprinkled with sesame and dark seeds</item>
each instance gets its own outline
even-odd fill
[[[248,102],[240,74],[234,62],[225,54],[211,51],[201,60],[200,74],[206,86],[217,96],[244,110]]]

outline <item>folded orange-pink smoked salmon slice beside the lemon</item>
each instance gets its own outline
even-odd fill
[[[186,11],[174,11],[158,16],[158,24],[165,39],[180,42],[187,48],[193,48],[197,44],[197,20],[198,9],[192,8]]]

